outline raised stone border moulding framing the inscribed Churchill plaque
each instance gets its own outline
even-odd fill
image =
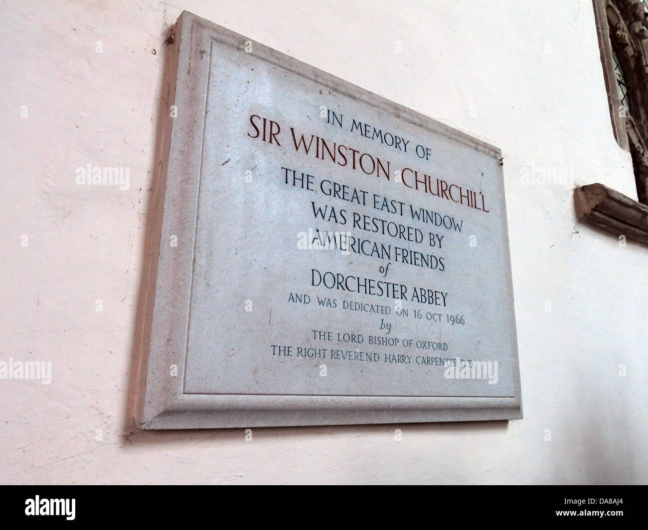
[[[153,266],[156,276],[154,305],[150,294],[141,365],[137,425],[144,429],[222,428],[297,425],[356,425],[378,423],[421,423],[431,421],[475,421],[522,418],[522,398],[514,330],[515,374],[513,397],[394,397],[326,395],[226,395],[183,393],[183,367],[187,346],[189,292],[198,208],[198,178],[204,126],[209,60],[203,58],[211,41],[242,50],[247,39],[235,32],[183,12],[176,24],[170,69],[168,101],[177,105],[178,116],[167,118],[164,159],[159,193],[164,195],[163,219],[158,219],[156,236],[159,258]],[[280,65],[324,87],[362,101],[401,120],[444,135],[470,148],[500,159],[501,151],[428,116],[395,104],[377,94],[356,87],[290,56],[252,41],[252,54]],[[501,175],[501,173],[500,173]],[[505,212],[504,222],[506,222]],[[178,237],[178,248],[168,245],[170,235]],[[509,254],[508,238],[505,248]],[[511,266],[508,265],[511,285]],[[511,288],[511,297],[513,296]],[[170,376],[172,365],[177,377]]]

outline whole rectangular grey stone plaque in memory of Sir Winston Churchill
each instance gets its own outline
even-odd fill
[[[187,12],[175,47],[141,426],[522,417],[500,151]]]

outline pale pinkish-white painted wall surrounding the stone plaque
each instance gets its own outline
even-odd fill
[[[524,420],[252,441],[133,430],[164,41],[183,9],[502,149]],[[52,364],[50,384],[0,380],[0,482],[648,480],[648,248],[573,208],[573,185],[636,197],[590,0],[2,1],[0,14],[0,360]],[[129,189],[77,186],[88,163],[128,166]],[[541,168],[564,168],[565,185],[529,184]]]

